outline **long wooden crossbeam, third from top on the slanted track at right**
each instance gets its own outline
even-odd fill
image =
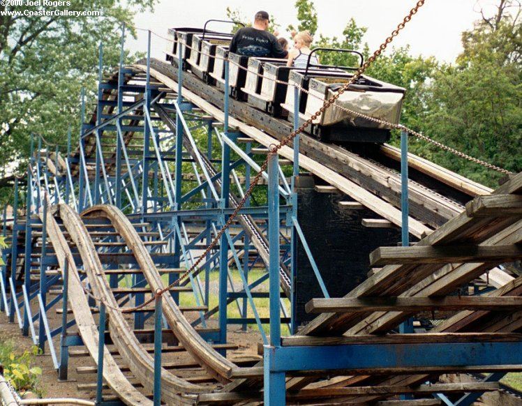
[[[522,296],[316,298],[307,313],[422,312],[431,310],[518,310]]]

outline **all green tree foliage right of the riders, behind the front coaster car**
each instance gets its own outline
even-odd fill
[[[296,8],[299,24],[317,24],[313,2],[297,0]],[[372,63],[366,74],[406,89],[401,118],[405,126],[468,155],[519,172],[522,170],[521,13],[522,6],[517,0],[497,0],[492,15],[481,10],[481,19],[475,27],[462,34],[463,52],[455,63],[414,57],[409,47],[392,47]],[[342,36],[320,35],[314,46],[356,50],[368,58],[370,50],[364,42],[365,33],[366,27],[360,27],[351,18]],[[359,64],[359,59],[350,54],[321,52],[320,57],[328,65]],[[392,142],[396,142],[396,137]],[[498,185],[502,176],[424,141],[412,140],[411,149],[492,187]]]

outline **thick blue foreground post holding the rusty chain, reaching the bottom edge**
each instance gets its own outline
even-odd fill
[[[273,372],[276,348],[281,346],[281,292],[279,287],[279,180],[277,153],[268,156],[268,235],[270,343],[264,346],[264,405],[285,405],[285,373]]]

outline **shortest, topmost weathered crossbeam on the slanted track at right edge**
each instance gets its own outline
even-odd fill
[[[475,197],[465,205],[470,217],[522,216],[522,195],[489,195]]]

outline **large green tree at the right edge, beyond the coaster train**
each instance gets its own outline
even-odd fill
[[[522,170],[521,23],[518,13],[485,17],[463,33],[463,52],[442,66],[427,99],[424,133],[512,172]],[[514,4],[512,4],[514,5]],[[432,147],[428,158],[489,186],[502,174]]]

